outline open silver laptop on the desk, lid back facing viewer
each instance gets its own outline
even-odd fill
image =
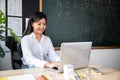
[[[74,65],[74,69],[89,66],[92,42],[61,43],[59,67],[53,67],[56,72],[63,72],[64,64]]]

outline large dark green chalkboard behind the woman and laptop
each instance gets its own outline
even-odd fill
[[[43,0],[48,35],[62,42],[92,41],[93,46],[120,45],[120,0]]]

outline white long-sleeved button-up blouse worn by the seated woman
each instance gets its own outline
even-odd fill
[[[59,61],[59,56],[53,48],[51,39],[42,35],[40,42],[35,38],[32,32],[21,39],[21,47],[23,52],[23,64],[29,67],[44,68],[46,59],[50,62]]]

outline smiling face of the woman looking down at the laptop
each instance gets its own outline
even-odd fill
[[[42,34],[46,29],[46,19],[42,18],[37,22],[32,23],[33,32],[36,34]]]

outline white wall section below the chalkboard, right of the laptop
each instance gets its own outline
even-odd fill
[[[90,64],[97,64],[120,70],[120,49],[92,50]]]

